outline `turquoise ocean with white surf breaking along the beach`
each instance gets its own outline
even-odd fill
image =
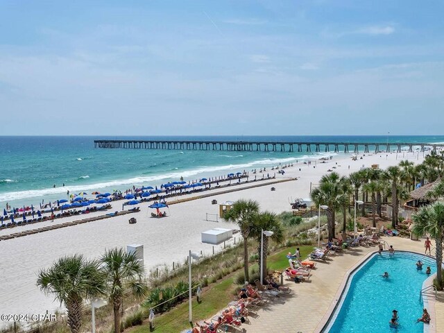
[[[67,191],[124,191],[171,180],[198,180],[335,153],[178,151],[94,148],[94,139],[185,139],[259,142],[444,142],[436,136],[0,137],[0,207],[67,198]],[[314,150],[312,148],[312,150]],[[55,185],[55,187],[54,187]]]

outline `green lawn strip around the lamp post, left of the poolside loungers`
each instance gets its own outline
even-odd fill
[[[193,298],[193,322],[208,319],[214,316],[218,311],[223,309],[230,300],[233,299],[232,291],[234,290],[233,278],[221,280],[216,282],[214,287],[204,290],[202,293],[202,302],[198,304],[196,298]],[[156,333],[171,333],[180,332],[190,327],[188,321],[188,302],[183,302],[171,311],[168,311],[162,316],[155,318]],[[149,332],[148,321],[142,326],[136,326],[129,329],[127,332],[131,333],[146,333]]]

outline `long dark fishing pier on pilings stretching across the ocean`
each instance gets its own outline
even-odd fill
[[[378,143],[378,142],[249,142],[249,141],[187,141],[187,140],[94,140],[94,148],[130,148],[130,149],[166,149],[166,150],[198,150],[198,151],[288,151],[288,152],[325,152],[329,153],[359,153],[361,148],[364,153],[379,153],[391,151],[395,148],[398,153],[402,147],[412,153],[423,152],[427,148],[436,151],[436,148],[444,148],[444,144],[427,143]],[[404,150],[406,151],[406,150]]]

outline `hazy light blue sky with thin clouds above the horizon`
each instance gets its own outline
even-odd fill
[[[443,12],[0,0],[0,135],[442,135]]]

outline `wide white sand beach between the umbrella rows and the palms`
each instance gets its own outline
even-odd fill
[[[51,266],[54,260],[63,255],[82,253],[86,257],[94,258],[99,257],[105,248],[143,244],[146,268],[161,264],[171,265],[173,261],[183,263],[188,250],[212,253],[212,245],[200,242],[200,232],[214,227],[236,228],[236,225],[223,220],[219,223],[205,221],[205,213],[219,213],[219,205],[212,205],[212,199],[222,203],[225,200],[252,198],[260,203],[262,210],[275,213],[289,211],[289,198],[309,198],[310,182],[316,186],[321,176],[327,173],[327,169],[336,167],[333,170],[341,175],[358,171],[363,166],[370,167],[371,164],[379,164],[379,167],[384,169],[389,165],[398,164],[402,160],[402,155],[403,153],[398,154],[397,160],[395,153],[388,156],[386,153],[366,154],[363,160],[357,161],[352,161],[349,156],[339,155],[333,160],[326,161],[325,164],[320,163],[321,161],[317,161],[316,165],[315,162],[311,162],[311,165],[295,164],[294,167],[284,169],[284,176],[277,174],[277,178],[297,177],[298,180],[244,189],[230,194],[218,195],[215,190],[211,192],[214,193],[211,198],[170,205],[169,211],[167,210],[169,216],[164,219],[151,219],[149,214],[153,210],[148,210],[146,208],[148,204],[144,203],[141,205],[141,212],[136,214],[0,241],[0,253],[3,255],[0,261],[0,313],[40,314],[46,310],[52,312],[56,309],[58,303],[53,302],[52,296],[44,296],[35,286],[35,281],[40,268]],[[415,163],[422,162],[422,153],[420,155],[405,153],[404,159]],[[273,171],[267,167],[267,172],[272,174]],[[262,174],[258,173],[257,177],[262,177]],[[236,187],[248,185],[236,185]],[[270,191],[271,186],[276,190]],[[120,210],[121,203],[118,203],[116,208]],[[103,212],[94,214],[103,214]],[[72,216],[53,223],[63,223],[90,216],[93,215]],[[133,216],[137,218],[137,224],[130,225],[128,219]],[[14,228],[13,231],[40,228],[49,224],[51,222],[36,223]],[[0,234],[6,234],[6,232]],[[237,240],[239,241],[239,235],[237,235]],[[221,246],[215,246],[215,248],[221,248]]]

